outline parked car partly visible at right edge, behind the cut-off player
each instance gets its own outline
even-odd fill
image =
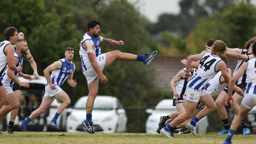
[[[251,131],[256,131],[256,106],[249,111],[247,116],[245,117],[247,122],[247,126]]]

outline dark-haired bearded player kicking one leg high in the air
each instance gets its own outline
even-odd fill
[[[87,80],[88,85],[88,98],[86,101],[86,119],[82,122],[83,126],[88,133],[93,134],[93,103],[98,94],[98,84],[106,84],[108,78],[102,73],[102,71],[110,66],[117,59],[124,61],[142,61],[145,65],[148,65],[152,59],[157,55],[157,51],[151,54],[134,55],[129,53],[123,53],[119,50],[106,52],[101,54],[100,44],[120,45],[123,46],[123,41],[115,41],[112,39],[106,39],[100,36],[100,22],[91,21],[87,24],[88,31],[85,33],[80,41],[80,57],[82,64],[82,72]]]

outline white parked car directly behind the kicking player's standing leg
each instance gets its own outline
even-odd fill
[[[82,121],[86,118],[85,103],[88,96],[81,97],[67,117],[67,132],[84,132]],[[126,132],[126,112],[113,96],[97,96],[92,113],[93,131],[101,133]]]

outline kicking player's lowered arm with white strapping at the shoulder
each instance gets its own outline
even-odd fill
[[[102,71],[100,70],[100,67],[98,63],[95,60],[95,44],[91,40],[86,40],[82,43],[83,48],[87,51],[87,55],[89,57],[90,63],[93,66],[93,69],[100,77],[100,83],[105,84],[107,83],[108,79]]]

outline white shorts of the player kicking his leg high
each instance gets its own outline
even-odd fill
[[[96,62],[98,63],[100,70],[103,71],[106,62],[106,54],[98,55]],[[87,70],[85,70],[83,75],[87,80],[87,85],[89,85],[89,83],[91,83],[98,76],[97,72],[93,69],[93,66],[90,66]]]

